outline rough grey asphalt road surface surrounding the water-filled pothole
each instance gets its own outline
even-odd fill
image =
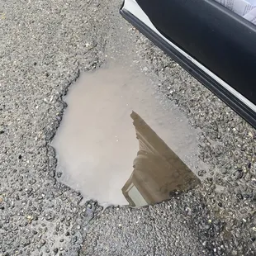
[[[1,0],[0,255],[254,255],[255,130],[123,21],[119,6]],[[198,128],[211,178],[157,206],[102,213],[55,180],[50,141],[79,73],[126,55]]]

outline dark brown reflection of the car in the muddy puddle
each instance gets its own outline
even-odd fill
[[[130,206],[145,206],[167,200],[170,192],[184,191],[200,183],[192,171],[169,149],[141,117],[134,111],[139,152],[134,161],[134,171],[122,188]]]

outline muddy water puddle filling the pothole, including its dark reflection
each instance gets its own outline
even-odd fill
[[[156,91],[121,66],[83,74],[53,141],[59,180],[103,206],[154,204],[199,183],[197,132]]]

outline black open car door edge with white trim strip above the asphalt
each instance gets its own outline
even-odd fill
[[[256,128],[253,23],[215,0],[125,0],[121,14]]]

